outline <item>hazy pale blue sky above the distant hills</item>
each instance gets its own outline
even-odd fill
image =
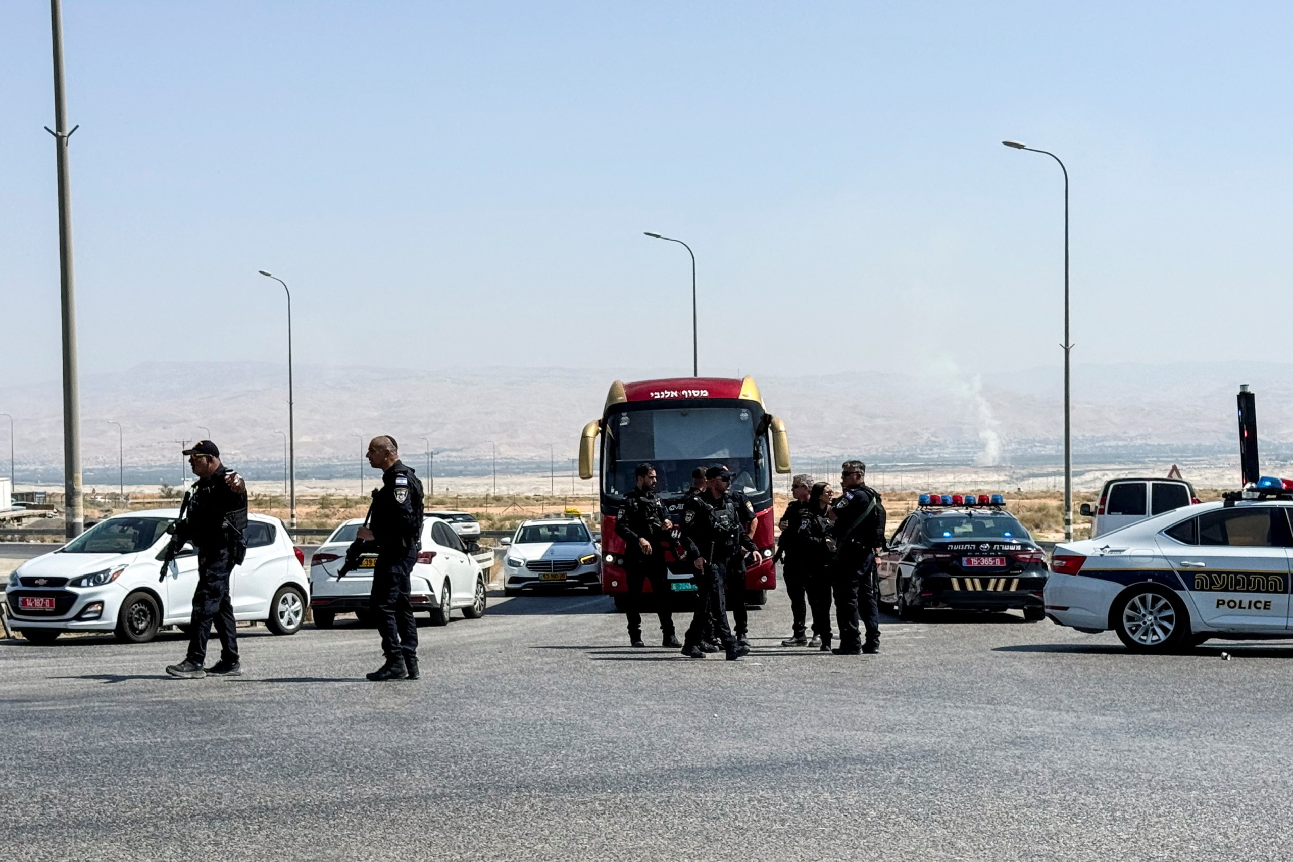
[[[85,3],[83,371],[1288,357],[1287,4]],[[0,9],[5,377],[57,379],[48,4]],[[1262,335],[1245,339],[1246,334]],[[847,339],[842,338],[847,337]],[[618,360],[612,355],[619,353]],[[1058,382],[1058,381],[1056,381]]]

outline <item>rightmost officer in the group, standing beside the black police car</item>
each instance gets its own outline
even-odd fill
[[[881,608],[875,588],[875,551],[884,547],[884,506],[881,494],[865,483],[866,465],[846,461],[839,472],[842,493],[831,503],[831,538],[835,542],[835,613],[839,647],[835,655],[881,651]],[[861,608],[859,608],[861,601]],[[861,642],[859,617],[866,626]]]

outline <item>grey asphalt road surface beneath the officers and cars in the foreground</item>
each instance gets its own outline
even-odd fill
[[[376,634],[0,645],[14,859],[1266,859],[1293,835],[1293,647],[1144,658],[1020,617],[883,654],[688,660],[603,597],[495,599],[370,683]],[[654,639],[654,625],[648,624]],[[1223,660],[1222,650],[1232,660]]]

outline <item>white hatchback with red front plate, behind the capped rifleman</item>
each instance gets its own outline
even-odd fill
[[[158,580],[178,509],[115,515],[9,576],[5,602],[13,628],[34,643],[63,632],[115,632],[129,643],[151,641],[163,625],[186,625],[198,585],[191,545]],[[250,515],[247,558],[233,571],[234,619],[264,621],[274,634],[295,634],[305,619],[309,581],[304,555],[277,518]]]

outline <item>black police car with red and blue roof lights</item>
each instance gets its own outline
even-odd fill
[[[924,608],[1021,610],[1045,619],[1046,553],[1001,494],[921,494],[875,560],[879,599],[899,619]]]

